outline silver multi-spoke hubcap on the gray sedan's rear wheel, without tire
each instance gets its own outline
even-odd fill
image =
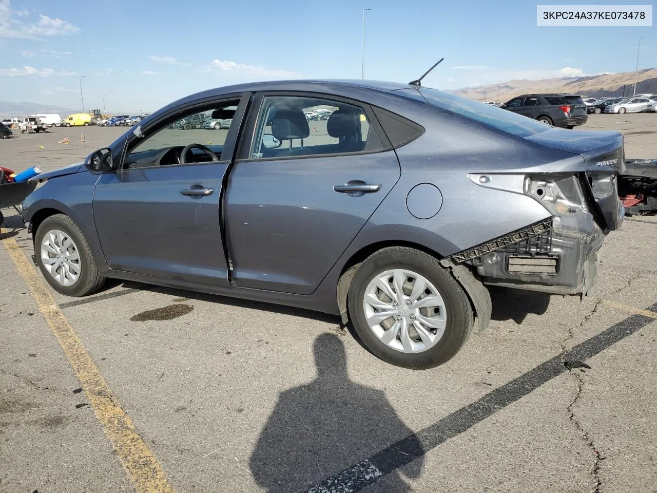
[[[386,270],[374,277],[365,289],[363,310],[374,335],[397,351],[426,351],[445,333],[442,296],[411,270]]]

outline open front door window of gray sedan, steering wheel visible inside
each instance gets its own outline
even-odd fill
[[[195,111],[145,135],[125,158],[124,168],[150,168],[175,164],[194,164],[214,160],[210,154],[193,147],[183,159],[181,151],[196,144],[221,158],[223,144],[233,123],[239,100],[225,101],[206,110]],[[184,161],[184,163],[183,163]]]

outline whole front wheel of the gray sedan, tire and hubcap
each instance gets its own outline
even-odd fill
[[[34,237],[37,265],[49,285],[67,296],[100,289],[105,279],[78,225],[64,214],[43,220]]]

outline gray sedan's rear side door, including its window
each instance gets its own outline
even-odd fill
[[[259,107],[227,189],[233,279],[309,294],[399,179],[399,162],[367,105],[289,95]],[[307,120],[311,110],[330,116]]]

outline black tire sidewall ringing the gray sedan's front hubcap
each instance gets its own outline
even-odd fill
[[[87,246],[87,241],[81,237],[78,231],[76,231],[76,228],[72,227],[68,221],[64,220],[64,217],[68,216],[51,216],[39,224],[39,229],[37,229],[37,233],[34,237],[35,258],[37,260],[39,270],[41,270],[41,273],[43,274],[43,277],[48,282],[48,284],[51,285],[53,289],[55,289],[55,291],[58,293],[66,294],[67,296],[81,296],[81,294],[88,291],[87,286],[89,285],[89,276],[91,273],[91,266],[89,265],[89,257],[91,256],[91,252]],[[43,241],[45,234],[52,229],[60,229],[65,231],[73,239],[74,243],[76,244],[76,248],[78,249],[81,272],[78,277],[78,281],[76,281],[76,283],[74,283],[72,286],[62,286],[60,283],[55,281],[53,276],[50,275],[50,273],[45,269],[43,262],[41,261],[41,241]]]

